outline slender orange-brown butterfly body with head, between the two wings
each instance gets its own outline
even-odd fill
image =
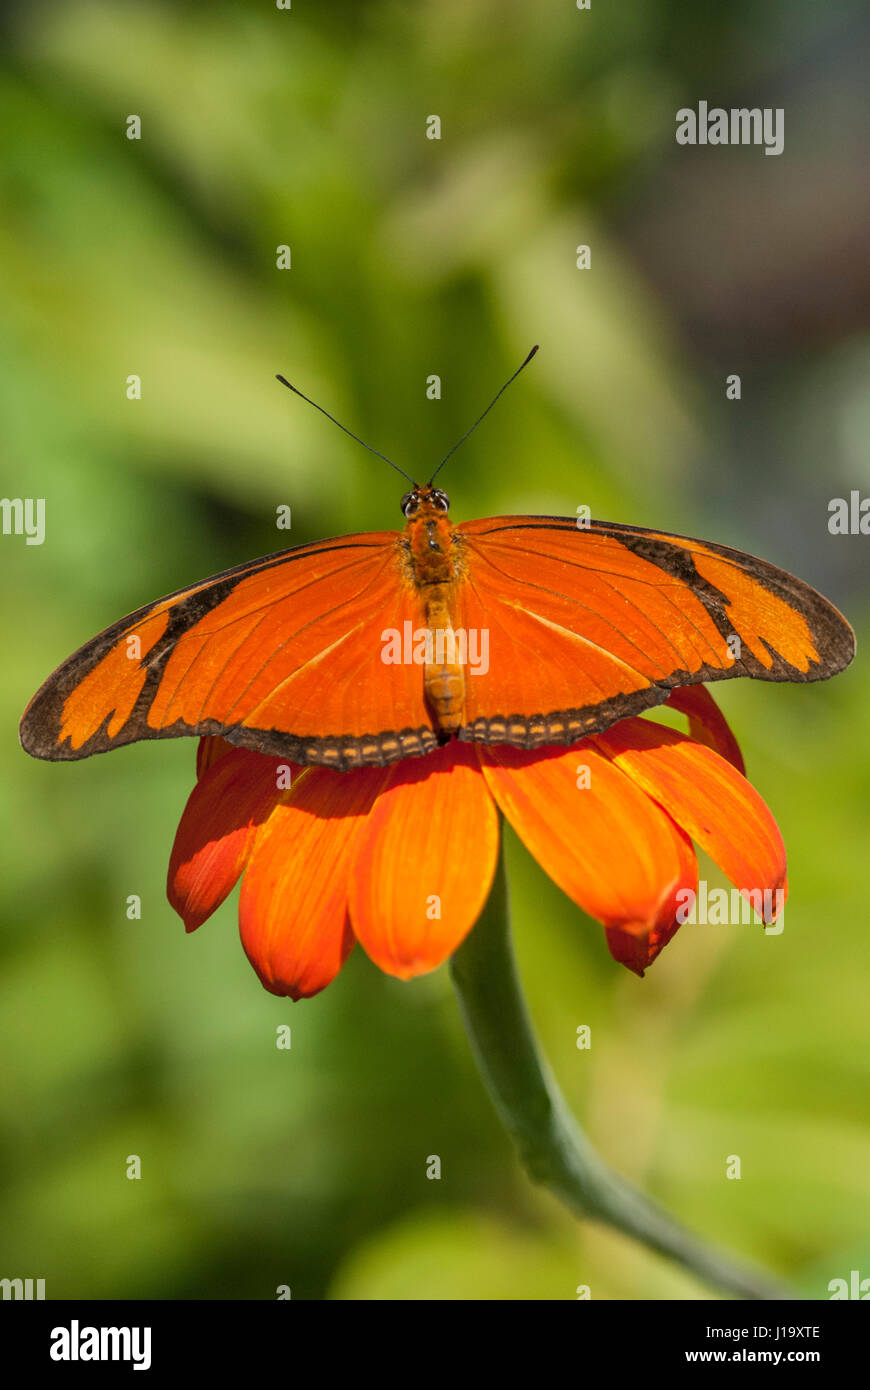
[[[442,734],[454,734],[466,703],[466,673],[454,634],[457,543],[446,493],[416,489],[406,510],[406,569],[427,630],[422,688]]]

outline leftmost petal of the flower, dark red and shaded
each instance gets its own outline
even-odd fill
[[[215,739],[222,742],[222,739]],[[203,771],[183,809],[170,858],[167,897],[195,931],[232,892],[256,827],[282,795],[279,758],[232,748]]]

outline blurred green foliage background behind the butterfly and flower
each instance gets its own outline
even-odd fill
[[[402,482],[275,371],[427,475],[532,342],[442,474],[454,520],[589,503],[738,545],[860,644],[870,541],[831,537],[827,503],[870,492],[866,6],[67,0],[1,22],[3,491],[44,496],[47,534],[0,538],[0,1276],[50,1298],[707,1297],[531,1187],[446,969],[400,984],[357,951],[292,1005],[235,897],[185,937],[164,878],[192,742],[51,766],[17,720],[121,613],[285,545],[279,505],[290,543],[400,524]],[[784,154],[678,147],[700,99],[784,107]],[[782,935],[685,927],[641,981],[511,840],[517,952],[606,1158],[824,1298],[870,1276],[867,682],[859,660],[717,695],[788,845]]]

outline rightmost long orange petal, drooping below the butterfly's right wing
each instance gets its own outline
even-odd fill
[[[741,892],[785,888],[780,828],[755,787],[724,758],[646,719],[623,719],[591,742],[653,796]]]

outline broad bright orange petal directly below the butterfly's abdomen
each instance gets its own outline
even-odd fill
[[[495,876],[499,817],[479,762],[453,741],[393,763],[354,847],[350,919],[388,974],[442,963],[479,917]]]

